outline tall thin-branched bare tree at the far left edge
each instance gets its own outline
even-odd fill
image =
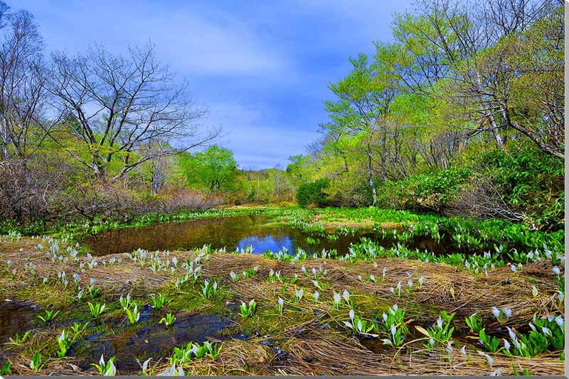
[[[46,136],[43,41],[31,13],[0,1],[0,148],[5,160],[28,158]]]

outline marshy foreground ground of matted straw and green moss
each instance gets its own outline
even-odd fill
[[[358,222],[358,221],[355,221]],[[556,300],[557,285],[551,273],[551,262],[528,263],[519,273],[509,268],[490,270],[484,275],[474,275],[443,263],[425,263],[418,260],[378,258],[373,262],[356,263],[337,260],[310,259],[298,263],[284,263],[254,254],[234,255],[230,253],[211,253],[201,262],[202,277],[196,284],[188,282],[179,289],[174,288],[176,278],[184,275],[184,269],[176,268],[152,272],[148,265],[142,267],[122,255],[97,257],[97,260],[115,257],[122,259],[114,265],[97,265],[85,272],[79,268],[86,262],[80,256],[77,262],[68,259],[66,263],[53,262],[46,251],[38,251],[41,240],[23,237],[18,241],[2,238],[0,243],[0,295],[12,301],[27,301],[43,309],[58,309],[60,314],[55,322],[43,324],[33,322],[31,338],[21,346],[4,345],[0,347],[0,361],[10,359],[14,364],[11,373],[18,375],[34,374],[28,367],[33,353],[40,351],[46,366],[40,374],[96,374],[94,368],[81,366],[83,356],[90,349],[85,336],[98,334],[97,339],[112,339],[124,334],[132,334],[156,323],[166,312],[176,315],[181,322],[196,314],[216,314],[233,320],[230,326],[220,331],[223,336],[223,350],[216,359],[204,358],[186,365],[186,374],[217,375],[275,375],[275,374],[328,374],[328,375],[381,375],[381,374],[420,374],[420,375],[487,375],[500,368],[503,375],[513,373],[513,368],[527,368],[533,375],[561,375],[563,361],[560,352],[545,353],[536,358],[509,357],[504,353],[494,353],[493,366],[479,351],[477,337],[470,335],[464,318],[478,312],[484,319],[486,328],[496,336],[504,333],[504,326],[518,331],[526,331],[533,314],[563,314],[563,304]],[[44,246],[46,241],[42,242]],[[63,248],[61,246],[62,253]],[[196,257],[196,252],[176,251],[161,254],[161,260],[176,256],[179,262]],[[6,260],[11,260],[7,268]],[[35,274],[23,272],[25,263],[33,262]],[[302,266],[308,275],[302,273]],[[259,266],[258,274],[252,278],[230,279],[229,273],[243,273]],[[16,268],[12,274],[11,269]],[[319,273],[319,300],[314,300],[317,288],[312,280],[311,270]],[[383,278],[383,269],[385,278]],[[82,301],[74,300],[73,285],[64,288],[57,282],[57,274],[65,270],[67,278],[78,273],[80,286],[85,288],[90,279],[96,280],[100,295],[95,299],[88,296]],[[279,272],[282,282],[268,282],[269,272]],[[326,275],[324,275],[326,271]],[[291,283],[294,274],[298,280]],[[368,278],[373,274],[378,282]],[[418,278],[424,282],[418,285]],[[43,285],[43,278],[50,278]],[[203,279],[217,280],[220,287],[216,297],[201,297],[200,284]],[[361,278],[361,279],[360,279]],[[400,296],[393,295],[390,287],[398,282],[413,280],[413,290],[403,290]],[[531,294],[531,286],[536,285],[539,294]],[[295,290],[302,288],[304,295],[299,302],[294,301]],[[354,335],[344,326],[349,320],[349,309],[344,300],[340,307],[334,307],[334,292],[348,290],[351,307],[356,314],[366,319],[381,319],[388,307],[398,304],[405,309],[405,322],[410,333],[405,345],[400,348],[386,346],[379,341],[386,336],[371,339]],[[154,317],[128,325],[126,315],[119,305],[119,296],[131,293],[141,306],[151,304],[153,294],[164,294],[169,303],[154,311]],[[284,311],[277,310],[277,300],[285,302]],[[238,314],[241,301],[257,302],[257,310],[251,317]],[[105,302],[107,310],[94,320],[90,316],[87,302]],[[491,307],[509,307],[512,317],[498,322],[491,315]],[[427,329],[442,310],[456,312],[453,336],[454,351],[445,346],[437,346],[430,351],[425,349],[425,337],[418,332],[420,326]],[[63,328],[73,322],[90,322],[87,332],[74,348],[73,354],[56,358],[57,337]],[[176,328],[176,323],[171,328]],[[20,333],[23,331],[20,331]],[[241,335],[241,338],[236,336]],[[245,337],[243,337],[245,336]],[[188,341],[189,342],[189,341]],[[198,341],[203,342],[203,341]],[[459,348],[467,346],[467,356],[459,353]],[[174,347],[179,346],[171,346]],[[151,366],[155,373],[165,370],[169,365],[164,356],[152,356]],[[144,357],[141,357],[144,358]],[[1,362],[0,362],[1,363]],[[84,362],[83,362],[84,363]],[[95,363],[95,362],[93,362]],[[134,362],[116,361],[119,373],[137,373]],[[82,368],[83,367],[83,368]]]

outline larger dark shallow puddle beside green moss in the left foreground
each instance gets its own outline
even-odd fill
[[[220,331],[233,323],[217,314],[177,314],[176,317],[176,322],[168,329],[156,319],[142,329],[129,327],[120,334],[88,336],[70,349],[69,356],[77,356],[83,370],[90,369],[90,363],[98,362],[101,354],[105,359],[114,356],[120,373],[139,373],[137,358],[141,363],[147,358],[156,363],[159,358],[171,356],[174,347],[186,346],[191,341],[223,341],[227,337]]]

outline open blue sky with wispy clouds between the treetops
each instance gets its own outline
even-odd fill
[[[349,56],[391,39],[393,13],[409,0],[61,1],[6,0],[36,16],[47,51],[115,53],[150,39],[161,60],[188,79],[204,126],[242,168],[286,167],[326,121],[327,85],[350,70]]]

